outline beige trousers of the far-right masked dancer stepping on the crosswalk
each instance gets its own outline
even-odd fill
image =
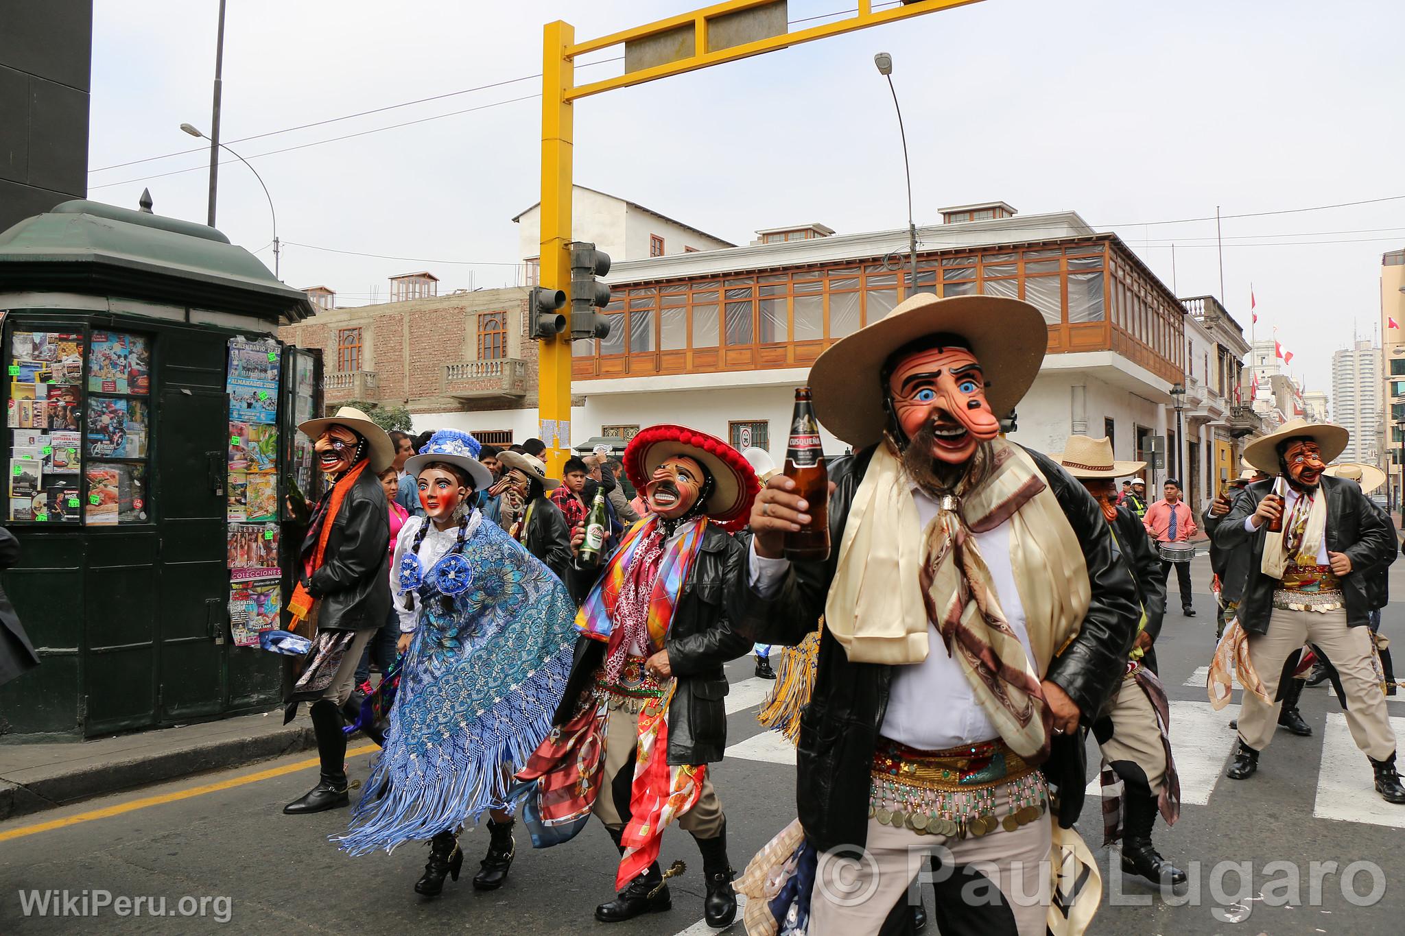
[[[1384,761],[1395,752],[1395,734],[1385,710],[1385,693],[1371,667],[1370,627],[1349,627],[1346,609],[1326,613],[1273,609],[1269,630],[1249,634],[1249,661],[1270,699],[1279,695],[1283,662],[1304,644],[1316,644],[1336,667],[1346,693],[1346,726],[1366,756]],[[1266,703],[1252,692],[1243,693],[1239,709],[1239,740],[1255,751],[1273,741],[1281,702]]]

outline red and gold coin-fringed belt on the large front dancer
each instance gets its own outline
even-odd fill
[[[1005,811],[1000,813],[1000,787]],[[917,835],[1013,832],[1048,808],[1043,775],[1003,741],[919,751],[880,738],[868,786],[868,817]]]

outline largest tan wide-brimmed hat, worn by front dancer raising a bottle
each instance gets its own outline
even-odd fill
[[[819,355],[809,369],[815,415],[854,448],[873,445],[888,425],[878,379],[884,362],[903,345],[943,333],[967,341],[991,383],[991,411],[1002,418],[1034,383],[1050,334],[1040,310],[1019,299],[917,293]]]

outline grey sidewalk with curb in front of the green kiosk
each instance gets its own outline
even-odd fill
[[[0,820],[316,748],[306,706],[66,744],[0,744]]]

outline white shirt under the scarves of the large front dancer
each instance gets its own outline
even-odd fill
[[[917,487],[912,488],[912,500],[917,505],[922,528],[926,529],[937,515],[937,501]],[[1005,617],[1019,636],[1024,654],[1033,661],[1034,651],[1024,626],[1024,605],[1020,603],[1010,564],[1010,525],[1005,522],[993,530],[972,533],[972,539],[991,570],[991,582]],[[752,543],[747,578],[763,598],[776,595],[788,567],[790,563],[784,559],[757,556],[756,543]],[[947,655],[941,634],[932,622],[927,622],[927,658],[898,667],[894,672],[882,721],[884,737],[922,751],[941,751],[998,738],[999,731],[976,703],[961,664]]]

